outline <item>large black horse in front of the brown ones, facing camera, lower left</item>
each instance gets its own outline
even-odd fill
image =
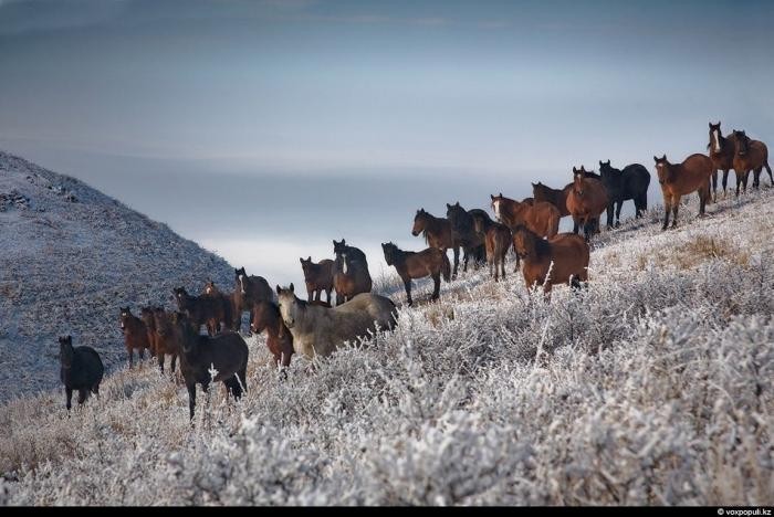
[[[248,390],[248,345],[238,333],[201,336],[196,323],[182,313],[170,316],[172,334],[180,344],[180,372],[188,389],[188,412],[194,420],[196,384],[207,392],[210,382],[222,381],[227,392],[239,400]],[[212,377],[212,370],[217,373]]]

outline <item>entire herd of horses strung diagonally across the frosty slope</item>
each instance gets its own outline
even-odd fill
[[[678,207],[682,196],[699,194],[699,214],[717,199],[718,171],[723,171],[723,192],[728,173],[736,175],[736,196],[746,191],[747,178],[753,172],[753,187],[760,187],[760,175],[765,168],[772,184],[774,177],[768,166],[768,151],[762,141],[752,140],[744,131],[732,131],[724,137],[720,123],[710,123],[709,156],[694,154],[679,163],[667,156],[653,157],[658,181],[663,194],[665,218],[662,230],[677,225]],[[485,261],[490,275],[499,281],[505,277],[508,252],[515,252],[515,270],[524,276],[529,288],[542,286],[550,296],[553,285],[568,284],[579,288],[588,281],[589,241],[599,232],[599,220],[607,212],[607,229],[620,224],[625,201],[635,204],[635,217],[641,218],[648,209],[650,173],[632,163],[616,169],[610,161],[599,161],[599,175],[585,167],[573,167],[573,181],[562,189],[541,182],[532,183],[533,197],[521,201],[501,193],[490,196],[490,209],[466,210],[459,202],[447,203],[446,218],[438,218],[419,209],[414,218],[411,234],[422,235],[428,244],[419,252],[400,250],[396,244],[383,243],[385,262],[394,266],[404,282],[407,305],[412,305],[411,279],[431,277],[436,300],[440,294],[441,277],[446,282],[457,277],[462,252],[462,271]],[[559,220],[572,217],[573,232],[559,233]],[[583,236],[579,232],[583,231]],[[453,254],[453,266],[447,251]],[[189,415],[194,419],[196,384],[207,391],[211,381],[222,381],[228,392],[239,399],[247,391],[248,346],[241,336],[241,321],[250,313],[250,330],[266,334],[266,347],[283,377],[293,354],[310,359],[326,357],[346,341],[376,335],[378,329],[391,329],[397,321],[396,305],[381,295],[373,294],[368,262],[362,250],[333,241],[334,258],[314,263],[312,257],[300,258],[306,284],[306,299],[295,295],[293,284],[272,289],[262,276],[248,275],[244,267],[234,270],[234,288],[221,292],[212,281],[205,284],[201,294],[189,294],[177,287],[172,294],[176,310],[163,307],[142,307],[138,315],[130,307],[121,307],[121,328],[128,352],[129,368],[134,351],[144,358],[145,350],[158,358],[164,372],[165,358],[170,356],[175,372],[180,372],[189,393]],[[326,299],[322,300],[322,293]],[[332,299],[335,292],[335,305]],[[201,335],[205,326],[207,335]],[[98,355],[90,347],[72,346],[70,336],[60,338],[61,378],[71,407],[72,391],[79,391],[83,403],[88,392],[98,393],[104,368]]]

